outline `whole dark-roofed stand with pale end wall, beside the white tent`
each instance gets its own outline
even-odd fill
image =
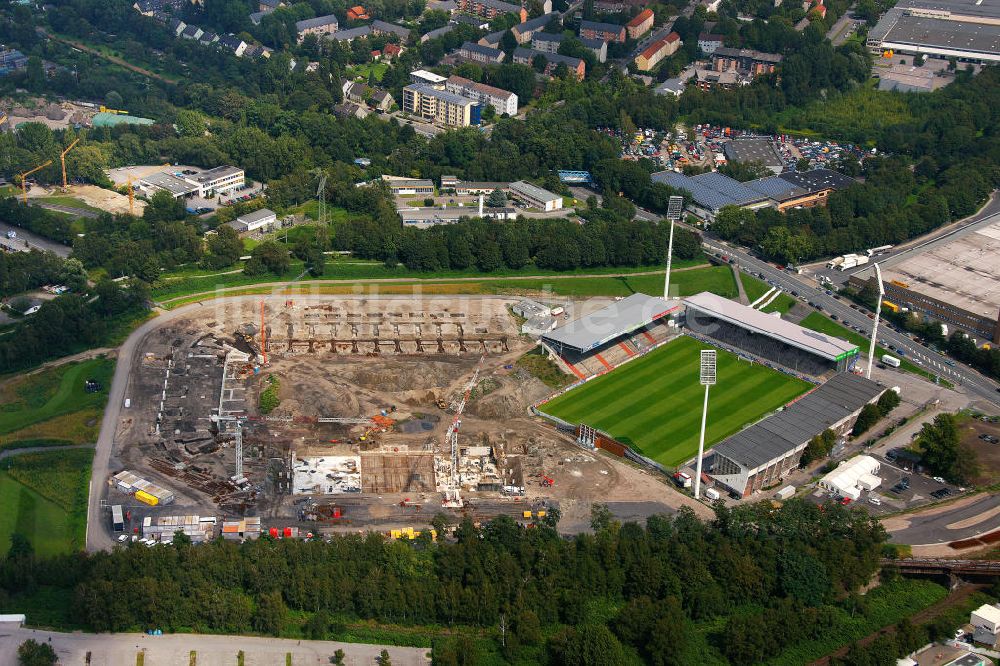
[[[884,391],[859,375],[834,375],[782,411],[712,447],[706,457],[708,474],[740,497],[773,486],[798,467],[810,439],[827,429],[846,433],[861,408]]]

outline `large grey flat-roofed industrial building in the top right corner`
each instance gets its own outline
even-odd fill
[[[901,0],[868,32],[874,54],[885,51],[1000,62],[1000,3],[996,0]]]

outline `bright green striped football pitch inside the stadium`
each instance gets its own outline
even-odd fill
[[[681,336],[541,405],[570,423],[603,430],[668,467],[698,453],[705,391],[699,352],[710,348]],[[802,395],[812,385],[718,350],[718,383],[708,399],[705,447]]]

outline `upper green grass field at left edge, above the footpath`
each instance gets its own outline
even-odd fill
[[[0,449],[92,441],[114,367],[110,359],[95,358],[18,377],[0,387]],[[102,389],[87,393],[88,379]]]

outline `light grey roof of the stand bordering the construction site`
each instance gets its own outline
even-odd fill
[[[605,342],[631,333],[677,309],[662,298],[632,294],[597,312],[574,319],[543,336],[549,344],[586,352]]]

